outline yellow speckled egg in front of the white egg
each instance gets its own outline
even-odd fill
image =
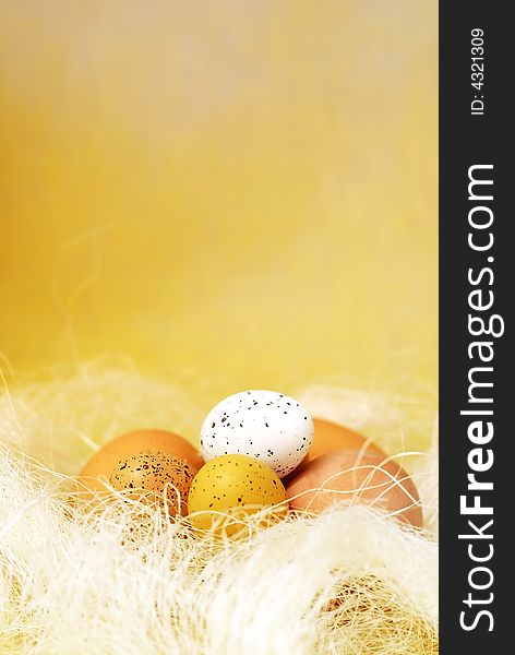
[[[248,455],[221,455],[205,464],[193,478],[188,509],[193,526],[233,536],[248,514],[284,503],[267,514],[264,523],[284,515],[288,509],[285,501],[283,483],[266,464]]]

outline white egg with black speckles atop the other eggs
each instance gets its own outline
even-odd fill
[[[227,454],[256,457],[279,477],[304,458],[313,440],[306,407],[275,391],[242,391],[216,405],[201,429],[206,462]]]

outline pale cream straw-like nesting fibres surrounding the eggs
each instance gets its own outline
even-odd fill
[[[349,397],[356,414],[366,394]],[[170,384],[98,364],[10,385],[0,397],[0,653],[436,653],[434,452],[411,466],[423,532],[356,505],[265,531],[254,515],[249,538],[218,543],[121,497],[101,511],[70,504],[69,476],[95,442],[145,426],[192,437],[203,413]]]

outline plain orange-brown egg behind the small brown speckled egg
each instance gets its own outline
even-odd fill
[[[79,474],[81,487],[105,491],[103,480],[109,479],[120,460],[149,450],[181,457],[195,469],[204,464],[199,451],[179,434],[167,430],[136,430],[109,441],[88,460]]]

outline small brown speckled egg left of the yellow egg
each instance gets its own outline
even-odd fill
[[[129,498],[155,500],[166,504],[168,514],[187,515],[187,502],[193,476],[191,464],[181,457],[159,451],[147,451],[121,460],[111,473],[110,484],[118,491],[129,491]]]

